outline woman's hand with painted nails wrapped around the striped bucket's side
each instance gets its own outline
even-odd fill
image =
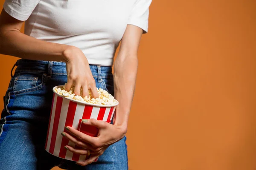
[[[121,140],[126,133],[126,128],[112,125],[101,120],[83,119],[83,123],[97,127],[99,129],[98,136],[89,136],[72,127],[66,127],[67,131],[71,135],[69,133],[64,133],[64,136],[68,140],[76,144],[76,146],[82,148],[79,149],[67,145],[66,147],[71,152],[77,153],[79,155],[87,155],[89,153],[88,150],[90,150],[89,154],[91,154],[91,156],[89,159],[76,163],[81,166],[93,163],[93,161],[101,156],[111,144]]]

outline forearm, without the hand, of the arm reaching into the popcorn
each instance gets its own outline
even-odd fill
[[[19,31],[0,33],[0,54],[23,59],[64,61],[64,51],[68,45],[38,40]]]

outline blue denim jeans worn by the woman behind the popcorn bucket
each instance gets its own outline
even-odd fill
[[[67,82],[64,62],[20,59],[4,97],[0,120],[0,170],[127,170],[124,137],[105,150],[95,163],[82,167],[44,150],[52,88]],[[113,95],[111,67],[90,65],[98,88]]]

